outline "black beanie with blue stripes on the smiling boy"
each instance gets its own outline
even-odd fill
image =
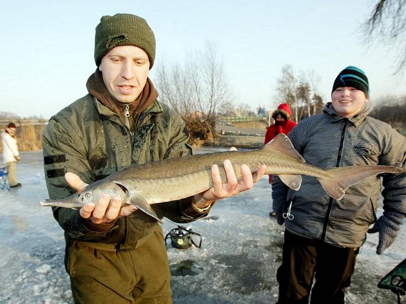
[[[369,98],[368,78],[363,70],[355,66],[347,66],[343,69],[334,80],[333,89],[340,87],[353,87],[364,92],[365,97]]]

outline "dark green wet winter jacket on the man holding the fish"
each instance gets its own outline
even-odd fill
[[[134,130],[130,133],[116,113],[89,94],[53,116],[43,134],[49,197],[74,193],[64,179],[66,172],[91,183],[129,166],[192,154],[184,121],[157,100],[136,118]],[[208,213],[194,212],[190,199],[153,208],[158,216],[176,222],[189,222]],[[90,230],[79,210],[54,207],[53,214],[65,231],[68,250],[72,240],[105,250],[132,250],[144,243],[157,225],[139,210],[101,232]]]

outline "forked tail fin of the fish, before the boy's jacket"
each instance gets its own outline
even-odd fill
[[[326,169],[326,177],[317,178],[328,195],[341,200],[348,187],[369,176],[381,173],[400,173],[401,168],[392,166],[350,166]]]

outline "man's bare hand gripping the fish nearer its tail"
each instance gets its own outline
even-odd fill
[[[231,148],[232,150],[235,148]],[[220,177],[219,168],[217,165],[212,166],[212,179],[213,187],[205,192],[196,194],[194,196],[194,205],[198,208],[205,208],[219,199],[228,198],[230,196],[242,193],[251,189],[255,182],[257,182],[265,173],[266,166],[262,165],[254,174],[251,173],[247,165],[241,166],[241,173],[243,179],[238,182],[235,176],[234,169],[230,160],[224,161],[224,170],[227,177],[227,183],[222,182]]]

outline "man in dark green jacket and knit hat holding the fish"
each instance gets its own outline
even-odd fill
[[[94,59],[97,68],[86,84],[89,94],[53,116],[43,134],[50,199],[75,191],[80,197],[87,184],[126,167],[192,154],[185,123],[157,100],[148,78],[155,36],[143,18],[102,17]],[[213,187],[153,208],[134,196],[126,204],[108,191],[80,209],[53,207],[65,232],[65,267],[75,302],[172,303],[161,227],[135,205],[176,222],[206,216],[216,200],[246,191],[254,182],[247,165],[239,168],[239,179],[229,160],[221,166],[226,183],[213,165]],[[259,179],[265,166],[258,167]],[[115,185],[124,193],[124,185]]]

